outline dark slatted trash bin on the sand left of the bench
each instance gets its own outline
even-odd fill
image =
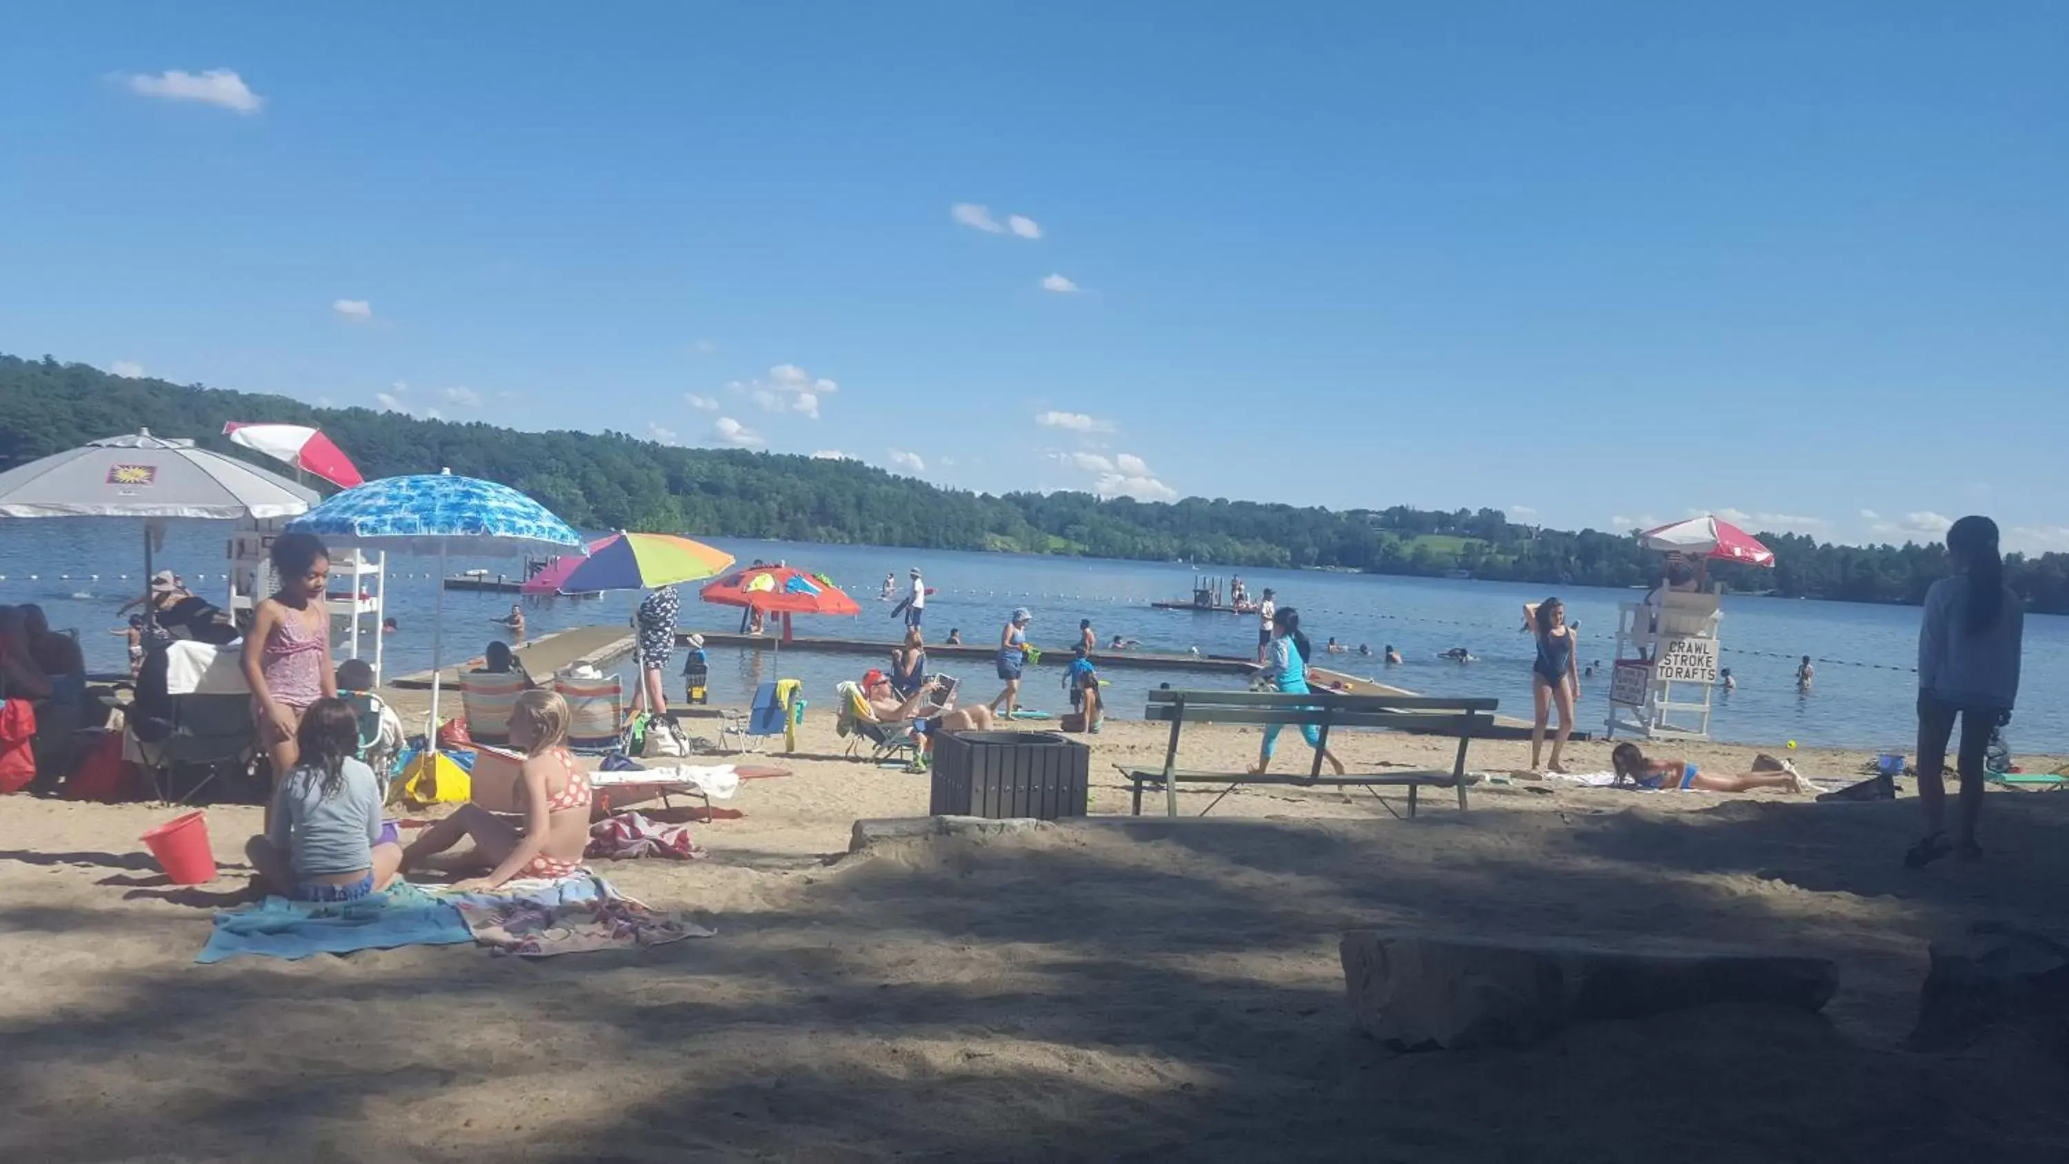
[[[941,732],[933,740],[935,817],[1084,817],[1092,748],[1055,732]]]

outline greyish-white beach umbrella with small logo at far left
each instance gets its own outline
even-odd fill
[[[151,430],[110,436],[0,473],[0,517],[143,517],[143,575],[151,577],[151,538],[166,517],[294,517],[308,513],[317,490],[246,465],[192,440]],[[149,585],[149,581],[145,583]],[[145,604],[149,616],[151,604]]]

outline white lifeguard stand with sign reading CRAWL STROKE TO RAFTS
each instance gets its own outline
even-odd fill
[[[1715,593],[1659,591],[1616,614],[1608,736],[1707,740],[1717,686]]]

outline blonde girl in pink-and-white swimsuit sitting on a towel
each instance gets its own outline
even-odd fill
[[[528,753],[519,784],[523,823],[478,804],[461,804],[410,841],[401,868],[422,866],[472,837],[474,852],[459,866],[492,866],[488,877],[461,881],[455,889],[494,889],[515,877],[567,877],[581,868],[590,846],[590,773],[567,751],[567,701],[552,691],[528,691],[511,709],[511,746]]]

